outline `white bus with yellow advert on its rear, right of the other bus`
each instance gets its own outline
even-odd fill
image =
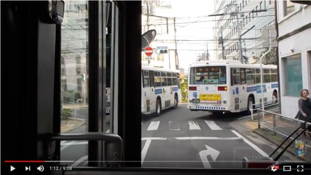
[[[264,105],[276,103],[276,66],[262,65],[262,70],[263,102],[272,101]],[[234,60],[200,61],[193,63],[189,72],[187,108],[191,111],[250,113],[251,105],[261,103],[260,64],[241,64]]]

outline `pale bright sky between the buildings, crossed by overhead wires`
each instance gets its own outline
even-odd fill
[[[215,25],[215,22],[200,22],[215,19],[215,17],[202,17],[214,13],[214,0],[170,0],[169,2],[171,2],[172,11],[176,17],[176,39],[191,40],[178,41],[177,52],[179,58],[179,67],[188,70],[188,67],[196,60],[199,53],[204,53],[204,51],[207,50],[207,45],[208,50],[210,50],[208,53],[210,54],[210,57],[213,58],[214,51],[212,50],[214,49],[215,44],[212,41],[208,41],[207,43],[207,41],[197,40],[214,39],[212,28]]]

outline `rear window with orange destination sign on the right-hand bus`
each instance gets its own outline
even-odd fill
[[[204,66],[190,69],[191,85],[224,85],[226,84],[225,66]]]

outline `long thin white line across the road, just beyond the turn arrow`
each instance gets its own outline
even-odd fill
[[[173,137],[173,138],[141,138],[141,140],[243,140],[240,137]]]

